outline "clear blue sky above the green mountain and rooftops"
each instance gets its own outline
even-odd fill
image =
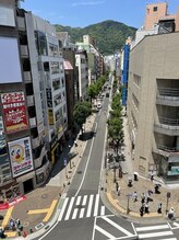
[[[105,20],[114,20],[141,27],[145,5],[163,0],[24,0],[21,7],[51,24],[84,27]],[[168,0],[168,13],[175,14],[179,0]]]

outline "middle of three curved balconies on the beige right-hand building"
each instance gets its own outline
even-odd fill
[[[179,136],[179,119],[159,117],[159,123],[154,124],[154,132],[168,136]]]

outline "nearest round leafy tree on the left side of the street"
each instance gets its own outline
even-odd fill
[[[86,118],[92,114],[92,104],[91,102],[77,102],[74,105],[73,116],[74,123],[81,128],[83,135],[83,124],[86,122]]]

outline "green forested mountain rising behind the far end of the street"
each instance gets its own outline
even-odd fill
[[[136,31],[136,28],[132,26],[111,20],[93,24],[84,28],[62,26],[58,24],[55,26],[58,32],[68,32],[71,36],[72,43],[82,42],[83,35],[93,36],[97,42],[99,52],[104,55],[110,55],[120,50],[128,36],[133,37]]]

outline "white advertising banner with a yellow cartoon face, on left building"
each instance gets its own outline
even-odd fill
[[[8,142],[13,178],[34,169],[29,137]]]

